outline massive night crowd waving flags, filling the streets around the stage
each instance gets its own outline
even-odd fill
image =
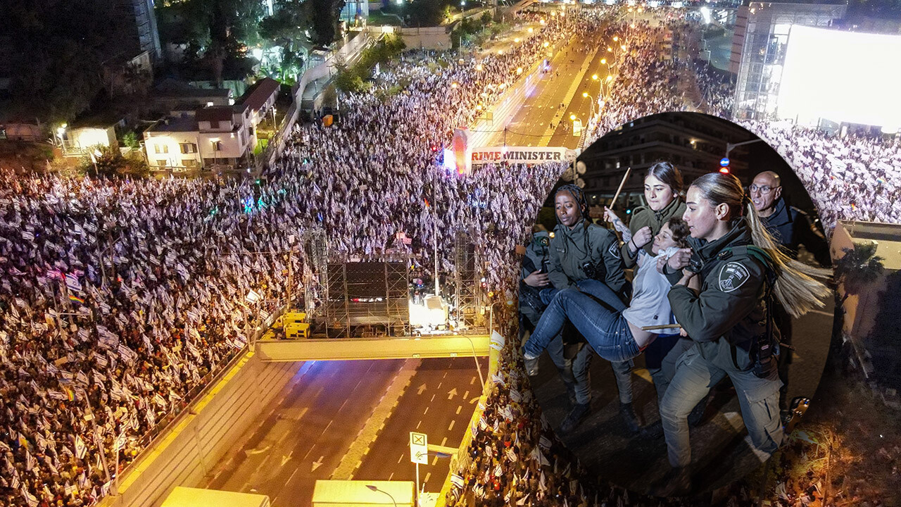
[[[321,227],[330,253],[355,256],[377,256],[403,232],[426,272],[436,241],[441,271],[452,272],[452,238],[464,231],[489,266],[489,288],[515,300],[514,246],[565,166],[486,166],[459,175],[442,169],[441,149],[479,105],[516,81],[518,69],[542,60],[545,42],[598,23],[627,33],[629,51],[619,55],[613,92],[590,136],[683,109],[683,97],[670,92],[687,63],[657,58],[667,27],[616,25],[609,14],[546,18],[510,51],[479,60],[407,54],[383,69],[375,90],[342,97],[334,126],[296,127],[260,180],[0,171],[0,503],[89,505],[114,489],[113,477],[285,304],[287,292],[300,293],[309,266],[296,246],[306,229]],[[827,225],[901,218],[892,208],[896,144],[747,126],[778,146],[809,188],[824,191],[814,198]],[[873,172],[876,183],[868,168],[882,171]],[[843,195],[867,198],[845,206]],[[473,452],[456,502],[641,504],[623,490],[591,490],[577,480],[578,465],[538,422],[514,373],[513,350],[505,348],[485,424],[476,429],[474,448],[492,451]],[[486,474],[490,491],[477,489]]]

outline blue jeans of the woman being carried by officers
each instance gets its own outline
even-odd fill
[[[592,290],[597,289],[599,285],[592,287]],[[623,303],[620,302],[620,305]],[[568,318],[582,336],[585,336],[588,345],[597,355],[608,361],[624,362],[641,354],[628,322],[619,311],[584,292],[567,289],[558,292],[544,310],[538,326],[525,343],[526,355],[531,357],[541,355],[551,339],[563,329]]]

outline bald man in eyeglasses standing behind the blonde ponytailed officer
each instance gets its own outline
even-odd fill
[[[751,187],[751,202],[757,214],[763,220],[769,234],[778,241],[788,255],[797,258],[798,246],[803,244],[808,252],[814,255],[821,266],[832,264],[829,256],[829,244],[826,238],[810,223],[807,214],[796,207],[790,207],[782,197],[782,182],[773,171],[763,171],[754,177]],[[791,345],[791,316],[782,305],[773,308],[773,320],[782,335],[781,341]],[[787,400],[788,364],[791,364],[791,351],[783,349],[779,354],[778,370],[782,388],[779,390],[779,410],[783,421],[790,416]]]

